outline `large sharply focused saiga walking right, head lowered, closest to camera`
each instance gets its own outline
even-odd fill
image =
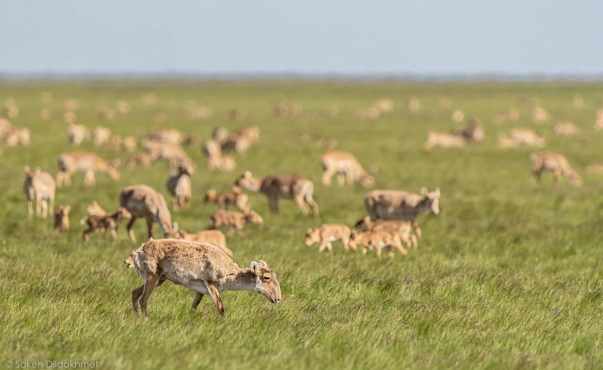
[[[242,269],[222,250],[212,244],[178,239],[151,238],[132,255],[136,274],[144,284],[132,291],[132,307],[147,317],[151,293],[166,280],[195,292],[191,312],[197,310],[204,295],[209,295],[224,317],[220,292],[250,290],[272,303],[280,302],[280,284],[274,271],[264,261],[251,262]]]

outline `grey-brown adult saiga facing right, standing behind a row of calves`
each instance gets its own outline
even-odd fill
[[[421,195],[406,190],[371,191],[364,197],[364,208],[371,220],[409,220],[420,238],[417,216],[429,211],[440,213],[440,188],[431,192],[421,188]]]

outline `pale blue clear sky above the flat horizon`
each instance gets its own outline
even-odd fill
[[[602,0],[0,0],[0,73],[602,74]]]

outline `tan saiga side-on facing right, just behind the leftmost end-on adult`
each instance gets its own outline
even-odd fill
[[[89,152],[66,152],[58,156],[57,185],[71,185],[71,176],[76,172],[84,173],[84,186],[94,185],[96,183],[95,173],[103,172],[109,175],[112,180],[119,180],[119,159],[106,162],[96,153]]]

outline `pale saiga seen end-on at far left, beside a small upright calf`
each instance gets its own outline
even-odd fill
[[[36,216],[48,217],[48,203],[50,203],[50,212],[54,213],[54,196],[56,193],[56,183],[49,173],[43,172],[40,168],[31,171],[29,166],[25,166],[25,181],[23,182],[23,191],[27,196],[27,214],[29,218],[33,217],[33,200],[36,200]]]

